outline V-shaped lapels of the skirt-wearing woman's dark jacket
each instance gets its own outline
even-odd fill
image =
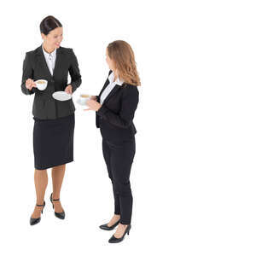
[[[49,79],[52,79],[55,76],[56,70],[60,69],[60,64],[63,57],[61,47],[59,49],[56,49],[55,69],[54,69],[53,75],[51,75],[51,73],[49,72],[49,67],[47,66],[47,63],[44,58],[42,45],[38,47],[36,55],[38,56],[39,67],[42,68],[47,73]]]

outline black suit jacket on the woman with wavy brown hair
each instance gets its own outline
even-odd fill
[[[107,79],[99,96],[97,96],[97,102],[100,102],[102,92],[108,84],[109,80]],[[96,127],[101,129],[103,139],[125,141],[134,138],[137,130],[132,120],[138,100],[137,86],[122,84],[113,87],[102,107],[96,111]]]

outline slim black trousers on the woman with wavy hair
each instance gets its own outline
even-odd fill
[[[132,195],[131,164],[135,154],[135,139],[119,143],[102,140],[102,149],[113,184],[114,213],[120,215],[121,224],[131,224]]]

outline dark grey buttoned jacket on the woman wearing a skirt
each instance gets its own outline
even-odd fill
[[[71,85],[75,91],[82,83],[79,73],[79,63],[73,49],[60,47],[56,49],[55,70],[53,75],[44,58],[42,45],[26,53],[23,62],[21,90],[26,95],[34,94],[32,113],[38,119],[57,119],[72,114],[75,111],[73,100],[56,101],[52,94],[67,87],[67,75],[71,76]],[[26,89],[26,79],[45,79],[48,81],[45,90]]]

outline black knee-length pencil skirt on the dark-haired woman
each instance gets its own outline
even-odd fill
[[[72,162],[74,113],[59,119],[34,120],[35,169],[44,170]]]

